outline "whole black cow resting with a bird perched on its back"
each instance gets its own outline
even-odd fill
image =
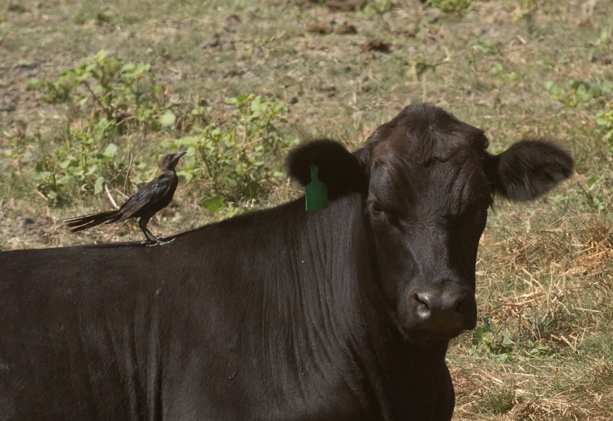
[[[364,147],[292,152],[304,198],[165,247],[0,253],[0,421],[449,420],[447,343],[476,323],[492,195],[571,175],[558,147],[500,155],[482,130],[412,105]]]

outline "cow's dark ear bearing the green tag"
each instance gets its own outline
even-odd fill
[[[319,181],[326,184],[330,199],[362,192],[368,186],[358,158],[338,142],[320,139],[295,147],[287,157],[287,174],[307,185],[311,182],[311,165],[318,166]]]

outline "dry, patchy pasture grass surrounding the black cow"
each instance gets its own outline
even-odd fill
[[[477,267],[479,315],[490,327],[480,322],[482,337],[462,335],[447,355],[454,420],[609,420],[613,144],[592,116],[613,102],[613,15],[607,2],[590,4],[473,1],[448,14],[417,0],[387,2],[386,13],[330,12],[306,0],[3,4],[0,248],[140,239],[135,223],[67,232],[61,218],[110,209],[107,195],[77,188],[57,207],[31,179],[36,160],[61,144],[71,111],[46,103],[28,82],[55,80],[101,49],[150,63],[169,97],[205,104],[209,122],[230,124],[224,99],[253,92],[290,104],[280,126],[286,135],[330,136],[352,149],[403,106],[425,100],[484,129],[491,151],[546,136],[577,160],[576,176],[550,195],[495,204]],[[310,31],[315,24],[332,32]],[[343,24],[357,33],[336,33]],[[389,52],[365,47],[375,40],[389,43]],[[585,97],[573,80],[600,93]],[[139,138],[136,158],[154,170],[162,141],[186,134]],[[280,183],[211,214],[200,206],[203,187],[181,182],[150,228],[184,231],[299,194]],[[118,200],[121,191],[112,189]]]

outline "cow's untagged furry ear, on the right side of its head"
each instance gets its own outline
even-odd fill
[[[499,155],[488,154],[485,170],[495,192],[511,200],[535,199],[573,174],[573,158],[549,141],[522,140]]]

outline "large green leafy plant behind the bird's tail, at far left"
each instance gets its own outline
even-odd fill
[[[133,161],[134,173],[126,179],[132,138],[178,123],[176,103],[167,99],[149,64],[126,63],[104,50],[64,70],[57,80],[32,80],[29,86],[44,91],[50,102],[74,106],[62,143],[44,151],[32,171],[39,192],[54,204],[69,201],[77,190],[100,193],[112,180],[124,186],[147,181],[152,170]],[[204,106],[191,108],[182,128],[204,121],[205,114]]]

